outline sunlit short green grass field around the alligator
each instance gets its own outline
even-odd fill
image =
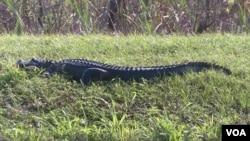
[[[0,140],[214,140],[222,124],[250,124],[248,35],[0,36]],[[19,59],[87,58],[154,66],[206,61],[204,71],[163,80],[84,86]]]

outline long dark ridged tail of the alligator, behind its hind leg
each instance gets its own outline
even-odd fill
[[[209,69],[222,71],[226,75],[231,74],[231,71],[227,68],[206,62],[189,62],[155,67],[111,67],[108,70],[112,74],[112,78],[117,77],[125,81],[140,81],[141,78],[152,79],[154,77],[171,76],[174,74],[183,75],[187,72],[201,72]]]

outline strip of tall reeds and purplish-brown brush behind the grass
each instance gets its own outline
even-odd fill
[[[249,11],[249,0],[2,0],[0,33],[239,33]]]

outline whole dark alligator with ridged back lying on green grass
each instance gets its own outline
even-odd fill
[[[82,82],[83,84],[90,84],[90,82],[95,81],[110,81],[114,78],[120,78],[123,81],[141,81],[142,78],[149,80],[154,77],[162,78],[173,74],[183,75],[189,71],[201,72],[207,69],[222,71],[226,75],[231,74],[229,69],[207,62],[188,62],[153,67],[125,67],[86,59],[53,61],[32,58],[30,61],[18,60],[16,65],[20,68],[43,68],[47,77],[57,73],[67,73],[73,80]]]

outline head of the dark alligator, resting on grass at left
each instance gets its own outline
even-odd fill
[[[16,65],[19,66],[20,68],[30,67],[30,66],[37,68],[47,68],[52,63],[53,63],[52,61],[32,58],[30,61],[18,60],[16,62]]]

